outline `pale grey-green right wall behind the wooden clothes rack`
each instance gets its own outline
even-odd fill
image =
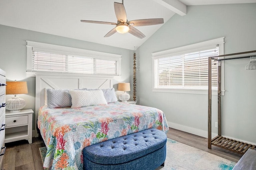
[[[136,50],[138,103],[164,111],[169,127],[207,137],[208,96],[152,92],[151,54],[219,37],[225,54],[256,50],[256,4],[188,6],[186,16],[168,20]],[[255,144],[256,70],[245,70],[249,60],[225,61],[222,135]],[[218,133],[217,96],[212,101],[212,132]]]

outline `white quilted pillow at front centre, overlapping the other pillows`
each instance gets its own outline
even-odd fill
[[[71,108],[108,104],[102,90],[70,90]]]

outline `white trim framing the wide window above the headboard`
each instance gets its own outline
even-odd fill
[[[119,76],[114,76],[115,78],[118,78],[121,76],[121,59],[122,55],[118,54],[111,54],[111,53],[104,53],[99,51],[91,51],[86,49],[78,49],[74,47],[66,47],[61,45],[53,45],[53,44],[47,44],[47,43],[39,43],[34,41],[26,41],[27,42],[27,73],[28,76],[35,76],[35,72],[32,72],[32,47],[38,47],[38,48],[44,48],[44,49],[50,49],[50,50],[60,50],[60,51],[68,51],[69,53],[76,54],[76,55],[86,55],[88,57],[94,57],[98,59],[117,59],[119,62]],[[49,73],[47,73],[49,74]],[[55,73],[56,74],[56,73]],[[85,75],[85,74],[80,74]],[[87,74],[86,74],[87,76]],[[90,76],[90,75],[88,75]],[[92,75],[95,77],[102,77],[102,75]],[[108,76],[108,75],[106,75]]]

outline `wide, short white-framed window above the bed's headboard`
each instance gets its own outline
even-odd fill
[[[120,55],[27,42],[30,72],[120,75]]]

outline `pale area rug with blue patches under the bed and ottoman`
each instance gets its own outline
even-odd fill
[[[167,139],[166,146],[165,165],[157,170],[232,170],[236,165],[235,162],[172,139]],[[44,162],[46,147],[39,150]]]

